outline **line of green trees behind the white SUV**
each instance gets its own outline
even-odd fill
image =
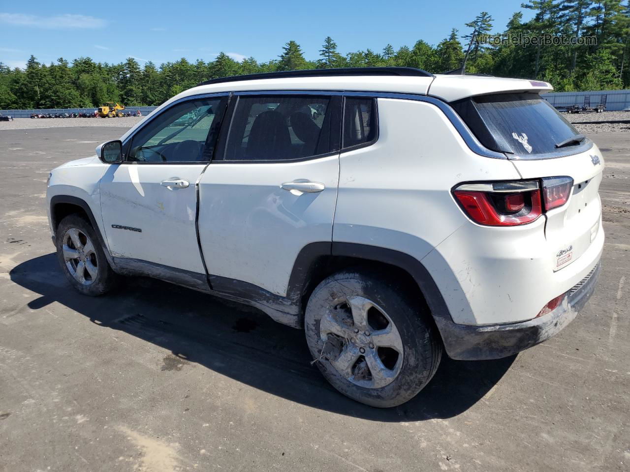
[[[418,40],[413,47],[394,50],[387,44],[381,52],[368,48],[343,55],[327,37],[316,60],[307,60],[295,41],[269,62],[220,53],[210,62],[180,59],[159,67],[152,62],[140,67],[132,57],[120,64],[79,57],[46,65],[31,55],[25,69],[0,62],[0,109],[157,105],[217,77],[330,67],[404,66],[435,73],[465,67],[467,74],[551,82],[556,91],[629,86],[630,0],[529,0],[521,8],[534,17],[524,21],[518,11],[496,33],[484,11],[466,23],[464,34],[453,28],[437,45]]]

